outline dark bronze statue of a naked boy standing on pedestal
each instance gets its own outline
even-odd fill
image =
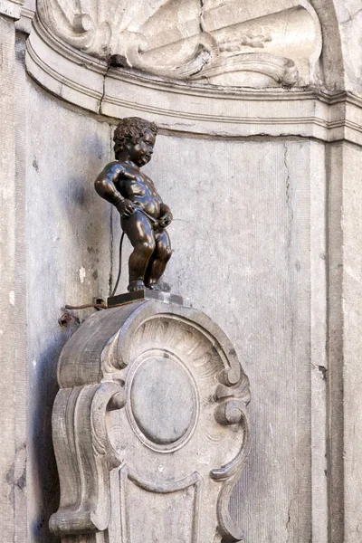
[[[139,169],[151,159],[156,136],[154,122],[138,117],[121,119],[113,137],[116,160],[103,169],[94,184],[98,194],[119,210],[122,230],[133,246],[129,292],[145,287],[158,291],[157,281],[171,256],[165,230],[173,218],[171,210]]]

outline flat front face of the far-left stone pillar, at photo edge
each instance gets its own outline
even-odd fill
[[[1,270],[1,326],[0,326],[0,362],[2,378],[0,396],[2,398],[2,416],[0,433],[3,443],[0,455],[0,510],[2,522],[2,541],[14,538],[14,470],[16,439],[16,390],[15,353],[15,134],[14,134],[14,24],[0,14],[0,78],[2,81],[2,99],[0,101],[0,270]],[[24,442],[23,442],[24,443]],[[24,448],[24,445],[23,445]],[[24,462],[23,462],[24,468]]]

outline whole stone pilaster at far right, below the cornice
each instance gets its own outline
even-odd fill
[[[357,543],[362,519],[360,148],[329,150],[329,439],[332,541]]]

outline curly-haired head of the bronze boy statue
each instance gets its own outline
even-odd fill
[[[157,125],[139,117],[120,119],[114,131],[114,154],[117,159],[123,151],[138,166],[144,166],[151,158],[157,136]]]

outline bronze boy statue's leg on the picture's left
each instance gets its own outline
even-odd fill
[[[121,226],[133,246],[133,252],[129,256],[128,290],[140,291],[145,288],[148,262],[155,251],[155,234],[148,218],[138,211],[122,219]]]

